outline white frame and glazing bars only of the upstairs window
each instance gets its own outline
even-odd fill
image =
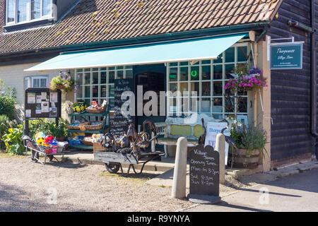
[[[27,20],[22,21],[22,22],[18,22],[18,0],[14,1],[14,8],[15,8],[15,15],[14,15],[14,22],[8,22],[8,0],[6,0],[6,25],[18,25],[18,24],[23,24],[23,23],[31,23],[31,22],[35,22],[35,21],[40,21],[40,20],[45,20],[45,19],[49,19],[49,18],[53,18],[52,16],[52,0],[51,0],[51,13],[43,16],[43,1],[41,0],[40,3],[40,18],[36,18],[36,19],[31,19],[31,0],[28,0],[28,9],[27,9]]]

